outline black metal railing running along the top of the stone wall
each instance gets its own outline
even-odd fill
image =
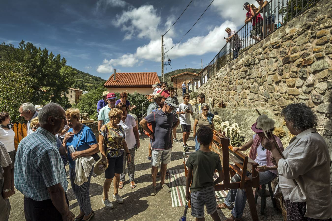
[[[264,0],[261,0],[264,2]],[[207,80],[257,42],[285,25],[294,17],[301,15],[319,0],[271,0],[260,8],[251,7],[254,15],[242,26],[222,47],[212,61],[193,79],[193,91],[202,86]],[[247,10],[248,11],[248,10]],[[234,33],[234,32],[233,32]],[[232,35],[232,33],[231,33]],[[224,39],[225,40],[225,39]]]

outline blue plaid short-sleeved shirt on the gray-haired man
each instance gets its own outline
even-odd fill
[[[14,184],[25,197],[41,201],[50,199],[47,187],[60,183],[66,191],[68,181],[63,169],[56,138],[39,127],[23,138],[17,148]]]

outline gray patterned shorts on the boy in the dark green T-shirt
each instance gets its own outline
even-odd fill
[[[217,210],[217,200],[213,186],[203,187],[201,190],[192,192],[190,205],[191,215],[194,217],[204,217],[204,205],[207,207],[207,214],[213,214]]]

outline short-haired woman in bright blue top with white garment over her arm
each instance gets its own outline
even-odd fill
[[[66,110],[66,118],[69,130],[63,139],[63,146],[66,146],[68,149],[70,184],[81,210],[75,220],[90,220],[95,215],[91,208],[89,193],[93,166],[88,181],[78,186],[74,183],[76,178],[75,160],[78,157],[91,156],[92,154],[97,153],[97,139],[92,130],[79,121],[80,111],[78,109],[69,108]],[[72,151],[72,149],[74,151]]]

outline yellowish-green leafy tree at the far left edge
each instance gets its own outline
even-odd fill
[[[23,64],[0,64],[0,110],[10,113],[12,122],[22,122],[19,108],[34,96],[35,79]]]

